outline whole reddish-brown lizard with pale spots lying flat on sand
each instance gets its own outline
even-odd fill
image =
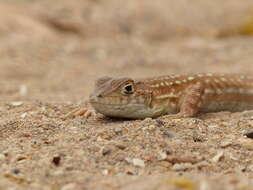
[[[144,79],[102,77],[89,97],[95,112],[109,117],[144,119],[195,117],[200,112],[253,109],[253,78],[241,74],[200,73]],[[68,116],[85,115],[89,109]]]

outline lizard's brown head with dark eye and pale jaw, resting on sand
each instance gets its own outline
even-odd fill
[[[151,92],[131,78],[99,78],[90,95],[93,108],[110,117],[143,118],[151,103]]]

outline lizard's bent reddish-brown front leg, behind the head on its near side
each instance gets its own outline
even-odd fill
[[[204,94],[203,83],[197,82],[187,87],[179,99],[179,113],[168,115],[170,119],[185,118],[195,116],[201,105],[202,96]]]

